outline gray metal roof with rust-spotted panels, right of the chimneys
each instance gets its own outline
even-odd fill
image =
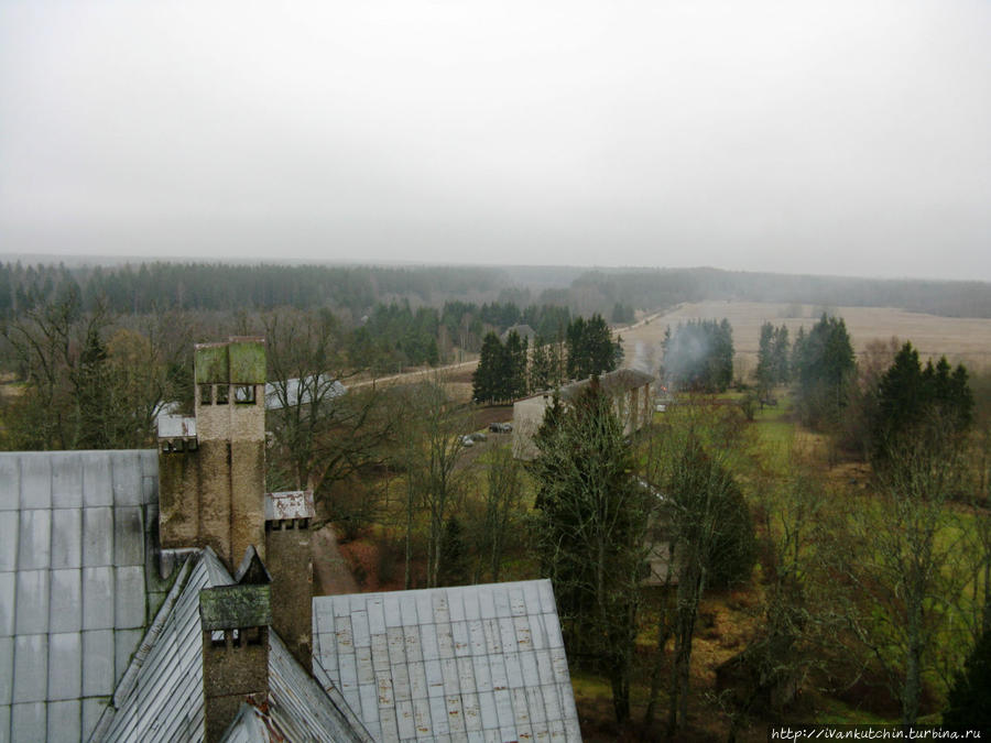
[[[313,618],[375,740],[581,740],[548,580],[317,597]]]

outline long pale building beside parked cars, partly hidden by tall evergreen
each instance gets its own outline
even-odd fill
[[[557,391],[565,404],[575,400],[585,387],[598,380],[598,384],[612,398],[616,414],[623,422],[627,435],[651,422],[656,378],[636,369],[617,369],[601,376],[590,376],[566,384]],[[513,454],[519,459],[533,459],[537,455],[533,437],[544,423],[544,414],[554,402],[554,392],[546,391],[513,404]]]

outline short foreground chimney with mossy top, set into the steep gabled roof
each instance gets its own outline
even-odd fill
[[[241,702],[268,704],[271,580],[249,547],[237,583],[199,592],[207,743],[224,736]]]

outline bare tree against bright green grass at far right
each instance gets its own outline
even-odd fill
[[[976,560],[949,507],[965,471],[960,452],[902,437],[886,459],[876,499],[850,511],[848,548],[834,556],[851,589],[843,594],[850,633],[883,669],[902,721],[914,724],[926,678],[959,665],[940,654],[966,646],[950,637],[965,625],[960,613],[971,612],[961,599]]]

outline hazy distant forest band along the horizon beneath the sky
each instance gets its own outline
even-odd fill
[[[338,266],[237,263],[116,265],[0,264],[0,315],[52,299],[74,282],[86,308],[116,313],[330,307],[360,318],[378,304],[406,299],[439,308],[448,301],[553,305],[629,321],[634,309],[732,299],[820,307],[899,307],[948,317],[991,317],[984,282],[854,278],[717,269],[593,270],[546,266]],[[532,325],[532,324],[531,324]]]

